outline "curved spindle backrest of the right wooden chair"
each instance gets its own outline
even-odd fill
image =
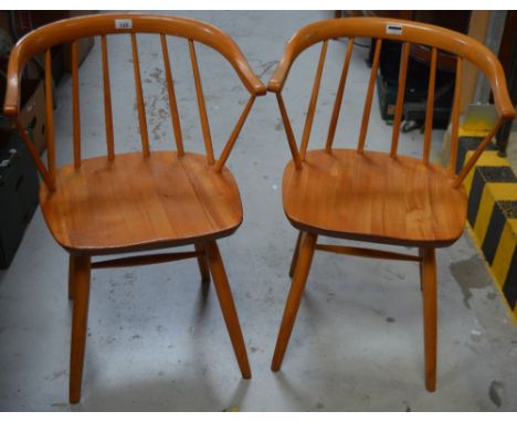
[[[430,148],[432,137],[432,125],[433,125],[433,107],[434,107],[434,94],[435,94],[435,80],[436,80],[436,62],[439,51],[452,54],[455,57],[455,88],[452,107],[452,141],[451,141],[451,161],[449,169],[452,173],[455,171],[455,162],[457,157],[457,137],[460,128],[460,89],[461,81],[463,77],[464,61],[473,63],[479,71],[482,71],[488,82],[490,83],[495,107],[498,112],[499,119],[492,128],[487,137],[482,141],[475,154],[471,157],[463,170],[456,176],[455,186],[460,186],[462,180],[468,173],[475,161],[486,148],[488,143],[492,140],[495,133],[499,129],[502,124],[515,117],[515,108],[510,102],[504,71],[500,66],[499,61],[494,53],[488,50],[482,43],[471,39],[469,36],[461,33],[446,30],[440,27],[383,18],[345,18],[334,19],[327,21],[315,22],[309,25],[302,28],[296,32],[293,38],[288,41],[284,55],[278,64],[277,70],[273,74],[267,89],[276,94],[278,106],[281,109],[284,127],[287,135],[291,152],[295,161],[295,166],[302,168],[305,155],[307,151],[307,145],[310,136],[310,129],[316,110],[317,97],[319,92],[319,85],[321,81],[321,73],[325,63],[325,55],[327,52],[328,42],[331,39],[348,38],[348,46],[345,54],[342,64],[341,76],[336,93],[336,99],[330,117],[330,124],[328,128],[328,135],[326,140],[326,150],[331,151],[334,137],[336,133],[336,125],[341,107],[341,102],[345,92],[345,84],[347,80],[348,68],[350,65],[350,59],[354,49],[354,40],[356,38],[371,38],[374,39],[374,52],[371,65],[371,73],[369,84],[366,93],[365,108],[362,113],[361,127],[359,131],[359,139],[357,144],[357,150],[362,152],[365,150],[366,136],[368,130],[368,122],[370,117],[370,109],[373,97],[373,89],[376,85],[376,77],[379,70],[380,53],[383,40],[393,40],[402,42],[402,52],[399,70],[399,84],[397,93],[397,104],[393,119],[393,130],[391,137],[391,149],[390,156],[397,157],[400,126],[402,120],[403,102],[405,81],[408,73],[408,63],[410,57],[411,44],[424,45],[430,49],[430,77],[428,86],[428,98],[426,98],[426,110],[425,110],[425,131],[424,131],[424,145],[423,145],[423,161],[429,163],[430,160]],[[298,149],[296,140],[294,138],[293,129],[291,127],[289,118],[285,108],[285,104],[282,97],[282,89],[284,87],[287,74],[291,70],[293,62],[296,57],[309,46],[321,43],[321,52],[319,55],[319,63],[316,71],[316,76],[313,85],[313,92],[307,109],[307,117],[305,120],[304,131],[302,135],[302,141]]]

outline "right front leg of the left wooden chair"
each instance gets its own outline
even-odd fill
[[[215,241],[207,242],[204,244],[207,251],[210,272],[212,273],[213,284],[218,294],[221,310],[226,324],[228,333],[232,341],[233,351],[242,373],[242,378],[251,378],[250,363],[247,361],[246,346],[239,324],[239,316],[233,303],[232,292],[228,283],[226,272],[219,252]]]

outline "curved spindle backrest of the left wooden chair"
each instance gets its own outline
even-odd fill
[[[112,113],[112,91],[109,83],[109,64],[107,35],[128,34],[131,41],[133,67],[135,88],[137,96],[138,119],[144,156],[150,155],[147,118],[144,102],[144,93],[140,78],[140,65],[138,57],[137,33],[159,34],[163,60],[163,70],[167,81],[170,115],[176,138],[178,156],[184,155],[181,124],[178,113],[178,104],[175,94],[175,84],[169,60],[167,35],[188,40],[189,52],[196,85],[201,128],[209,165],[214,165],[215,171],[221,171],[239,136],[239,133],[250,113],[255,96],[265,94],[265,86],[255,76],[235,42],[218,28],[188,18],[158,15],[158,14],[96,14],[57,21],[41,27],[23,36],[11,52],[8,67],[8,88],[3,110],[12,116],[20,129],[36,167],[50,190],[55,190],[55,143],[53,122],[53,93],[52,93],[52,59],[51,48],[63,43],[72,43],[72,96],[73,96],[73,146],[74,166],[81,167],[81,119],[80,119],[80,81],[78,81],[78,40],[88,36],[101,36],[103,87],[104,87],[104,115],[106,127],[107,157],[115,159],[114,125]],[[194,43],[202,43],[219,52],[235,70],[238,76],[250,93],[250,99],[230,135],[219,159],[215,162],[212,138],[210,133],[207,107],[204,103],[201,76],[196,55]],[[45,109],[46,109],[46,147],[48,168],[41,161],[25,128],[18,120],[20,110],[20,77],[28,61],[36,54],[44,53],[45,65]]]

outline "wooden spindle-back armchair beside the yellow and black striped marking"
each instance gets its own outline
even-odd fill
[[[344,97],[355,38],[371,38],[374,55],[366,93],[357,148],[333,147]],[[329,40],[348,38],[340,81],[331,112],[325,149],[307,150],[310,129]],[[366,149],[373,86],[383,40],[402,43],[398,97],[390,152]],[[289,124],[282,91],[295,59],[307,48],[321,42],[321,53],[298,148]],[[430,51],[429,95],[423,143],[423,158],[398,154],[403,94],[412,44]],[[430,162],[436,57],[439,51],[454,55],[456,84],[452,112],[452,145],[449,168]],[[455,175],[457,155],[460,89],[464,62],[483,72],[492,84],[499,119],[473,156]],[[287,43],[267,89],[276,94],[293,159],[283,179],[283,204],[289,222],[299,230],[289,275],[287,296],[272,370],[281,368],[294,320],[299,307],[315,250],[362,257],[418,262],[424,310],[425,387],[435,390],[436,371],[436,261],[435,249],[453,244],[465,224],[467,198],[463,180],[502,124],[515,116],[508,97],[503,68],[484,45],[460,33],[437,27],[381,18],[350,18],[312,23],[300,29]],[[341,137],[341,136],[340,136]],[[318,235],[355,241],[404,245],[418,249],[407,255],[365,247],[319,244]]]

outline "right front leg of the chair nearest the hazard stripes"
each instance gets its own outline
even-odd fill
[[[437,291],[436,256],[433,247],[422,251],[422,296],[424,319],[425,388],[436,389]]]

